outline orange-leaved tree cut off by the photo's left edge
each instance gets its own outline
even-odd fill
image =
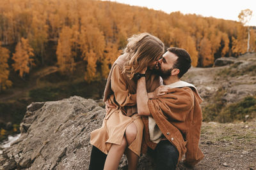
[[[9,66],[7,62],[10,57],[9,53],[9,50],[2,47],[0,42],[0,92],[12,86],[12,81],[8,80]]]

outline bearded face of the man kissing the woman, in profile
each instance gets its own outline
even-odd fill
[[[173,71],[173,66],[178,59],[177,55],[172,52],[166,52],[164,53],[163,57],[158,60],[158,66],[159,69],[157,73],[162,78],[167,78],[168,76],[171,76],[171,73]]]

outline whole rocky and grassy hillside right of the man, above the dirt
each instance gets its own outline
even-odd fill
[[[256,53],[216,60],[215,67],[189,69],[183,80],[200,96],[204,121],[234,122],[256,117]]]

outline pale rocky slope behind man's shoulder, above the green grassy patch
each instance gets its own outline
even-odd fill
[[[183,80],[193,83],[204,99],[202,106],[212,103],[212,97],[223,90],[225,103],[235,103],[246,96],[256,95],[256,53],[246,53],[216,60],[214,67],[192,67]]]

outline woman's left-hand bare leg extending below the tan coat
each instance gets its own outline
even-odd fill
[[[120,145],[112,144],[108,152],[108,156],[104,165],[104,170],[113,170],[117,169],[120,159],[127,147],[127,141],[125,138],[122,139]]]

